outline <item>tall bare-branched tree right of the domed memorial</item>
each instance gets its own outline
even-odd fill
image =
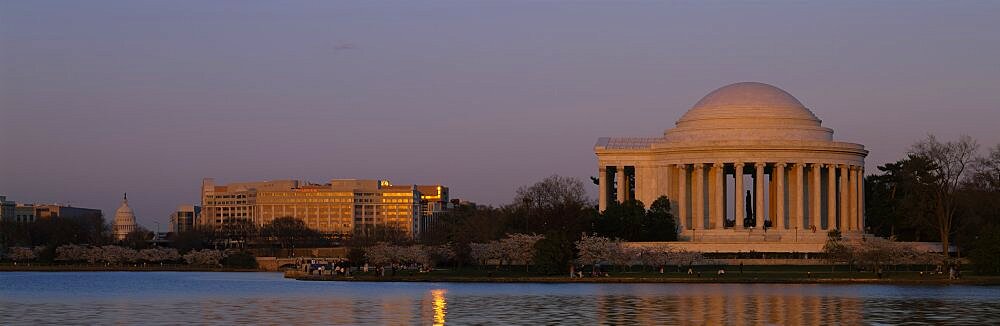
[[[934,225],[941,236],[942,252],[949,254],[949,239],[958,210],[958,190],[969,165],[975,160],[976,141],[962,136],[958,141],[939,142],[934,135],[917,142],[910,150],[934,163]]]

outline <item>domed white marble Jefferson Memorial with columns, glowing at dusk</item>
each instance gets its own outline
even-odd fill
[[[768,84],[716,89],[662,137],[597,141],[600,210],[666,196],[678,244],[706,252],[818,252],[833,229],[859,239],[868,151],[821,122]]]

